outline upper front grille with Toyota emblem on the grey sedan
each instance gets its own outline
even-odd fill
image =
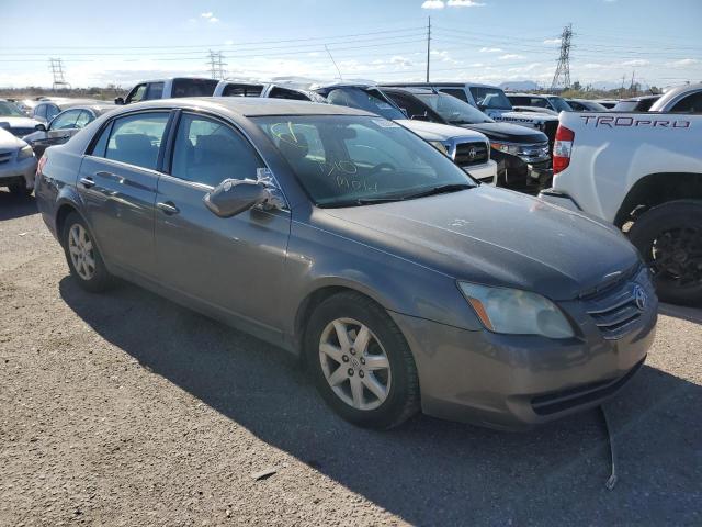
[[[630,280],[632,274],[630,270],[613,282],[604,282],[598,292],[586,300],[586,311],[605,339],[622,337],[644,313],[636,304],[635,291],[636,288],[642,288],[646,295],[650,291],[635,280]]]

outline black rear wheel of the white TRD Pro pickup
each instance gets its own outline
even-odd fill
[[[629,237],[650,266],[660,300],[702,301],[702,202],[655,206],[636,220]]]

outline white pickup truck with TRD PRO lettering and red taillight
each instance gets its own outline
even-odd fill
[[[562,112],[540,197],[625,231],[661,300],[702,301],[702,115]]]

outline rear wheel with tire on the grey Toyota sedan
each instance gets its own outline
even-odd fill
[[[71,240],[73,235],[76,237]],[[107,272],[92,234],[83,218],[76,212],[71,212],[64,222],[61,245],[70,273],[78,285],[91,293],[100,293],[112,285],[112,277]],[[75,257],[71,256],[73,251],[77,253]]]

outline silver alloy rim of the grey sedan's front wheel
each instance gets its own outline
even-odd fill
[[[374,410],[389,394],[390,363],[371,329],[353,318],[337,318],[319,340],[321,370],[333,393],[356,410]]]

